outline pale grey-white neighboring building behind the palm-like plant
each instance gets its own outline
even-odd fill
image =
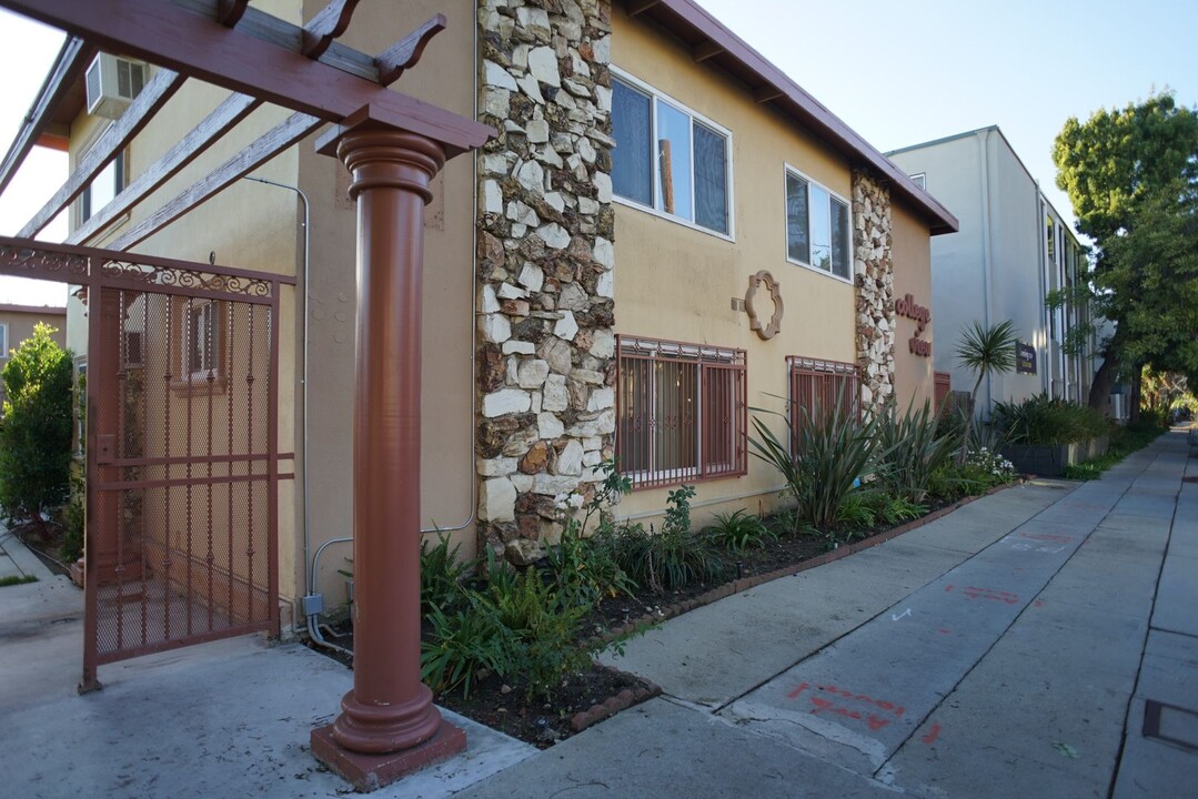
[[[1049,310],[1045,297],[1087,271],[1084,246],[1040,190],[1040,183],[998,126],[903,147],[887,156],[961,220],[961,230],[932,240],[932,315],[942,345],[937,371],[952,388],[976,377],[956,357],[961,333],[1011,320],[1019,338],[1019,370],[994,375],[978,392],[978,412],[994,401],[1048,392],[1084,402],[1094,376],[1094,335],[1085,352],[1067,356],[1070,329],[1088,309],[1070,303]]]

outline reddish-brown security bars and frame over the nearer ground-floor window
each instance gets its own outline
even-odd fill
[[[616,337],[616,458],[622,467],[630,460],[624,456],[628,441],[619,435],[621,428],[625,424],[625,414],[630,414],[625,397],[625,370],[628,369],[625,355],[647,363],[651,375],[657,374],[652,367],[658,363],[688,363],[695,367],[694,391],[698,412],[690,423],[690,434],[686,438],[686,443],[694,442],[695,465],[655,468],[655,465],[651,462],[647,468],[622,472],[631,480],[634,491],[739,478],[749,473],[749,362],[745,350],[618,334]],[[730,413],[727,428],[715,431],[722,440],[719,447],[708,446],[704,442],[704,432],[707,431],[704,414],[709,400],[704,395],[707,391],[704,387],[709,385],[704,374],[709,370],[715,370],[716,374],[727,374],[726,385],[718,387],[721,392],[728,392],[726,402]],[[648,395],[651,397],[649,401],[655,405],[658,393],[654,385],[648,388]],[[658,435],[649,432],[649,430],[655,431],[657,424],[655,418],[651,418],[648,425],[652,426],[647,425],[641,435],[655,442]],[[658,447],[645,444],[642,447],[647,453],[647,459],[652,461]],[[727,449],[727,458],[721,459],[719,464],[712,462],[712,458],[719,456],[719,454],[713,454],[713,450],[722,448]]]

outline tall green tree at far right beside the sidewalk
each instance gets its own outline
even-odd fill
[[[1193,343],[1184,313],[1193,309],[1193,284],[1184,279],[1191,267],[1179,256],[1188,252],[1192,261],[1194,252],[1198,113],[1163,92],[1085,122],[1071,117],[1053,162],[1078,232],[1094,240],[1091,304],[1115,323],[1090,388],[1090,406],[1102,410],[1120,371],[1135,395],[1142,364],[1173,357],[1187,335]]]

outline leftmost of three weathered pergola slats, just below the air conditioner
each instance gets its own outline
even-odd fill
[[[145,85],[137,99],[125,109],[121,117],[104,131],[87,153],[79,159],[67,182],[54,193],[46,205],[34,214],[34,218],[25,223],[25,226],[17,234],[18,238],[32,238],[37,231],[50,224],[50,222],[69,202],[79,196],[91,181],[107,167],[117,153],[133,140],[141,128],[150,122],[151,117],[167,104],[171,95],[183,85],[184,78],[170,69],[159,69],[150,83]]]

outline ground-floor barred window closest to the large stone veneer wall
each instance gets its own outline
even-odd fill
[[[636,488],[749,472],[745,351],[619,337],[616,455]]]

